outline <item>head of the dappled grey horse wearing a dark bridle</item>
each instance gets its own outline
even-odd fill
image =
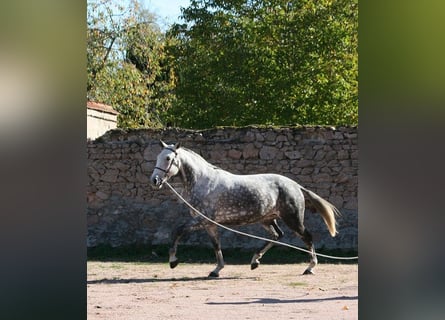
[[[156,166],[151,175],[150,181],[153,187],[162,188],[164,182],[179,173],[180,161],[177,150],[181,147],[178,142],[176,145],[168,145],[164,141],[160,141],[163,148],[158,154]]]

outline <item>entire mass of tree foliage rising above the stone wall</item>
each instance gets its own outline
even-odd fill
[[[191,0],[165,34],[89,0],[88,99],[123,128],[358,122],[357,0]]]

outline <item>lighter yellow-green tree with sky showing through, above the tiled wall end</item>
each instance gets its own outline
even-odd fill
[[[168,39],[139,2],[88,2],[87,95],[113,106],[121,128],[157,127],[174,102]]]

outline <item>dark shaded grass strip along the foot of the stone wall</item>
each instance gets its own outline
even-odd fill
[[[254,250],[242,248],[223,249],[224,260],[228,264],[250,264]],[[355,250],[326,250],[319,249],[318,253],[349,257],[357,256]],[[177,256],[181,262],[186,263],[215,263],[215,254],[212,248],[202,246],[180,245]],[[87,249],[88,261],[121,261],[121,262],[151,262],[167,263],[167,245],[131,245],[111,247],[100,245]],[[273,247],[261,259],[262,264],[288,264],[305,263],[309,261],[308,254],[287,247]],[[332,260],[318,257],[319,263],[356,264],[357,260]]]

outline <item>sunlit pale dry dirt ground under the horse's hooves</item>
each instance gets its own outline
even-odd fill
[[[88,319],[357,319],[358,265],[88,262]]]

